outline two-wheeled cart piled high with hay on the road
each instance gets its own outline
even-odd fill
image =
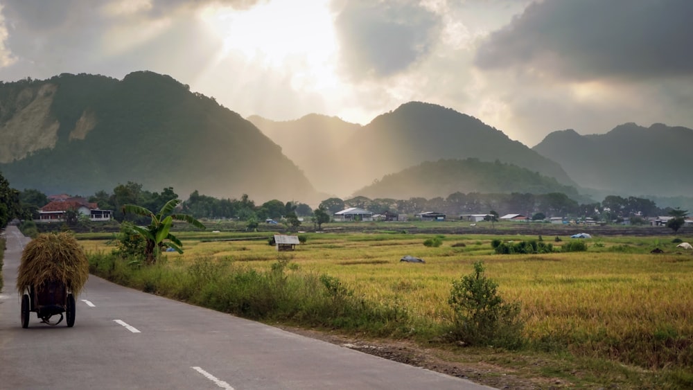
[[[29,313],[55,326],[67,317],[75,324],[75,296],[89,278],[87,256],[71,233],[43,233],[31,240],[21,254],[17,291],[21,294],[21,327],[28,328]],[[51,317],[60,315],[58,321]]]

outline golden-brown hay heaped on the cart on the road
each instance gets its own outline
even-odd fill
[[[89,261],[70,233],[43,233],[31,240],[21,253],[17,291],[60,281],[76,296],[89,278]]]

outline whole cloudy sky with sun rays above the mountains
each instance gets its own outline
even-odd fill
[[[690,0],[0,0],[0,80],[172,76],[243,116],[419,100],[526,145],[693,127]]]

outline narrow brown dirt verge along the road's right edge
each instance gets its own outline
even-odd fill
[[[496,389],[560,389],[572,384],[557,378],[522,378],[511,369],[481,362],[456,362],[453,353],[439,348],[424,348],[413,342],[398,340],[362,340],[319,330],[278,326],[291,333],[337,344],[344,348],[394,360],[410,366],[471,380]],[[447,358],[446,358],[447,357]],[[457,359],[459,360],[459,359]]]

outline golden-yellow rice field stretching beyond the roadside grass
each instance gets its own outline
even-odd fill
[[[674,236],[597,237],[586,241],[586,252],[532,255],[495,254],[491,240],[536,240],[536,236],[448,235],[439,236],[440,247],[426,247],[423,241],[436,235],[304,233],[304,244],[281,252],[267,245],[267,240],[238,240],[267,233],[181,232],[177,236],[185,253],[164,254],[162,266],[181,268],[204,261],[266,272],[278,260],[288,262],[288,273],[326,274],[369,302],[402,308],[412,330],[397,337],[419,342],[426,342],[439,326],[449,323],[453,281],[470,274],[473,263],[482,260],[486,276],[498,283],[500,295],[521,304],[527,339],[521,353],[580,360],[583,369],[606,371],[588,375],[606,375],[607,379],[595,379],[598,383],[693,385],[693,254],[677,250]],[[680,238],[693,242],[693,237]],[[562,236],[561,242],[544,239],[556,249],[571,240],[568,236]],[[114,248],[105,240],[81,242],[90,254]],[[655,247],[665,254],[650,254]],[[400,262],[405,255],[426,263]],[[632,370],[623,373],[621,365]]]

